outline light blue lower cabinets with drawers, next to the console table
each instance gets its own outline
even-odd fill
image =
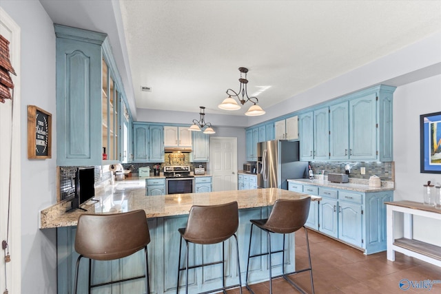
[[[387,249],[384,202],[393,200],[393,191],[365,193],[294,182],[288,182],[288,189],[322,197],[311,202],[305,226],[364,249],[365,254]]]

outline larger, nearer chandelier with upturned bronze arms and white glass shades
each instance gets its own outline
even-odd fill
[[[234,98],[232,98],[232,96],[233,96],[233,97],[237,97],[240,104],[242,104],[242,105],[244,105],[248,101],[254,103],[254,105],[249,107],[248,111],[245,112],[246,116],[261,116],[261,115],[265,114],[265,111],[259,105],[257,105],[257,103],[259,102],[258,98],[248,96],[248,93],[247,93],[247,83],[248,83],[247,72],[248,72],[248,69],[246,67],[239,67],[239,72],[240,72],[239,91],[235,92],[232,89],[228,89],[226,92],[228,95],[228,98],[225,98],[225,100],[220,105],[218,105],[218,107],[220,109],[225,109],[225,110],[238,110],[238,109],[240,109],[240,105],[238,105],[236,100],[234,100]],[[245,74],[245,78],[242,77],[242,74]],[[242,97],[240,97],[240,96],[242,96]]]

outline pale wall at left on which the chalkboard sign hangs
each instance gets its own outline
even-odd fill
[[[0,5],[21,27],[21,293],[57,293],[56,231],[39,229],[39,211],[57,200],[57,134],[52,159],[28,160],[26,123],[28,105],[50,112],[53,129],[57,123],[54,27],[39,1]]]

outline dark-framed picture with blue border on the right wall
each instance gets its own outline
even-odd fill
[[[420,115],[420,172],[441,174],[441,112]]]

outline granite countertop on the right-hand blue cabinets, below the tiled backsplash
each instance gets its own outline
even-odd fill
[[[309,180],[307,178],[288,179],[288,182],[296,182],[302,185],[313,185],[319,187],[328,187],[335,189],[344,189],[358,192],[380,192],[392,191],[395,189],[394,182],[381,181],[381,187],[369,187],[369,180],[349,178],[349,182],[328,182],[327,180]]]

